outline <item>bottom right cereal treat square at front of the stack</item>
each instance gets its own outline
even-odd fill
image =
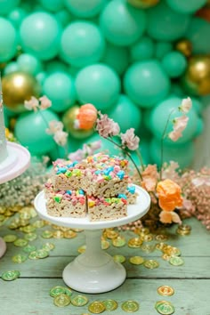
[[[109,221],[127,215],[127,199],[124,194],[112,198],[88,196],[88,214],[90,221]]]

